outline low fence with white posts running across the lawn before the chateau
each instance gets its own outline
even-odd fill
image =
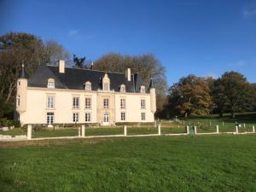
[[[100,136],[86,136],[85,126],[82,125],[79,127],[78,136],[73,137],[39,137],[32,138],[32,125],[27,126],[26,137],[2,137],[0,140],[4,141],[21,141],[21,140],[44,140],[44,139],[72,139],[72,138],[97,138],[97,137],[154,137],[154,136],[188,136],[188,135],[214,135],[214,134],[253,134],[255,133],[255,127],[253,125],[252,131],[243,131],[239,132],[238,125],[235,126],[234,131],[219,131],[218,125],[216,125],[216,131],[212,132],[198,132],[196,126],[185,126],[185,132],[183,133],[162,133],[161,125],[157,125],[157,133],[154,134],[127,134],[127,125],[123,126],[123,134],[115,135],[100,135]]]

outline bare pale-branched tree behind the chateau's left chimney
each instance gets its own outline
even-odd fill
[[[67,65],[70,64],[70,54],[61,44],[55,41],[47,41],[44,44],[44,49],[47,64],[55,66],[59,60],[65,60]]]

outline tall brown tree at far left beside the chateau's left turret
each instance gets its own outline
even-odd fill
[[[10,101],[15,96],[21,63],[26,65],[27,73],[32,73],[44,63],[45,55],[42,40],[31,34],[10,32],[0,36],[0,42],[0,96],[3,110],[4,106],[13,105]]]

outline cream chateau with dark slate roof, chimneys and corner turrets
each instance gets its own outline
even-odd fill
[[[114,125],[154,122],[155,89],[139,74],[106,73],[93,69],[41,66],[27,77],[24,66],[17,81],[16,112],[25,124]]]

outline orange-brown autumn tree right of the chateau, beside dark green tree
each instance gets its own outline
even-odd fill
[[[212,100],[207,80],[193,74],[182,78],[169,89],[169,105],[172,113],[185,117],[206,115],[209,113]]]

